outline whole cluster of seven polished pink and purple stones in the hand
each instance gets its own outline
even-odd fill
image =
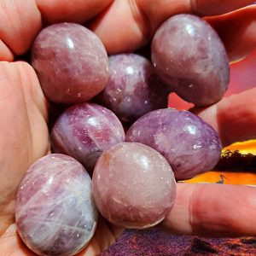
[[[54,154],[26,172],[17,193],[20,237],[40,255],[74,255],[90,241],[99,211],[109,222],[159,224],[176,181],[212,169],[216,131],[188,111],[167,107],[175,91],[195,106],[218,102],[229,83],[224,45],[206,21],[175,15],[155,32],[152,63],[109,56],[84,26],[44,28],[32,66],[50,102],[72,105],[50,133]],[[126,131],[123,125],[131,125]]]

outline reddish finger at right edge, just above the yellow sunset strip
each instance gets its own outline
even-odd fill
[[[191,109],[218,132],[223,146],[256,138],[256,88],[231,95],[208,108]]]

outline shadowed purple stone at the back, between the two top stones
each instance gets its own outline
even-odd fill
[[[109,57],[108,83],[98,98],[124,122],[167,107],[166,88],[154,67],[146,58],[135,54]]]

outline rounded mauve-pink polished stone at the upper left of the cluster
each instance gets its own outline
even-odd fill
[[[93,32],[79,24],[44,28],[32,46],[32,67],[45,96],[57,103],[88,101],[108,81],[106,49]]]

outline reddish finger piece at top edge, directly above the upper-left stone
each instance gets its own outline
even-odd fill
[[[46,23],[73,21],[82,23],[106,9],[113,0],[37,0]]]

